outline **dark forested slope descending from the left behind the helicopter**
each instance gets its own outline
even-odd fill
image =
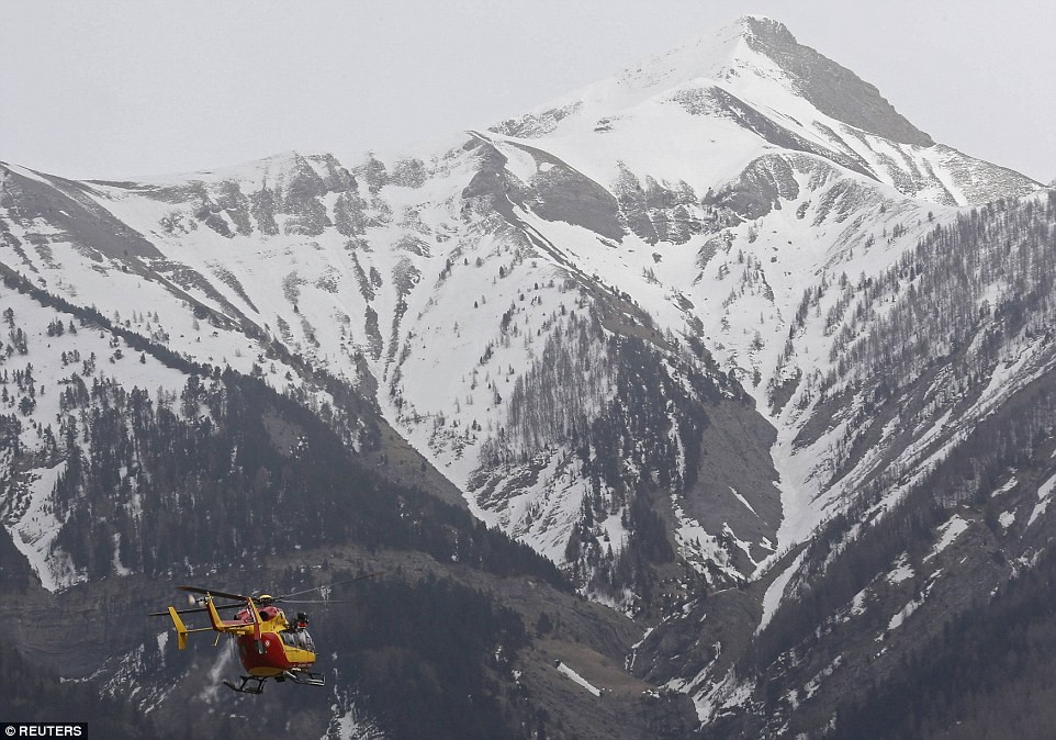
[[[633,623],[574,597],[552,563],[464,509],[385,480],[303,399],[10,277],[0,300],[12,338],[0,362],[0,613],[22,655],[5,676],[31,663],[113,697],[97,719],[114,737],[226,737],[243,711],[317,737],[523,737],[531,725],[632,738],[645,721],[683,737],[692,726],[684,698],[658,702],[622,672]],[[203,640],[179,652],[161,620],[142,618],[176,583],[288,592],[366,569],[387,572],[335,590],[314,615],[328,687],[297,702],[229,704],[217,682],[238,670],[231,651]],[[618,693],[626,716],[599,711],[553,660]],[[16,698],[33,721],[83,706],[80,692]]]

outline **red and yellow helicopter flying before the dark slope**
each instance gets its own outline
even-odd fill
[[[187,637],[191,632],[215,631],[216,642],[221,635],[228,635],[238,646],[238,658],[247,675],[243,675],[241,683],[224,681],[224,685],[240,694],[261,694],[265,683],[269,679],[276,682],[292,681],[306,686],[323,686],[325,677],[310,669],[315,664],[315,642],[308,634],[308,616],[299,612],[291,621],[277,604],[336,604],[340,602],[329,599],[291,601],[291,596],[300,596],[313,591],[352,583],[363,579],[381,575],[384,571],[360,575],[347,581],[332,583],[328,586],[314,586],[305,591],[297,591],[281,596],[260,594],[245,596],[231,594],[214,588],[199,586],[177,586],[190,594],[200,594],[196,603],[202,606],[190,609],[177,609],[169,606],[166,612],[155,612],[151,617],[170,617],[176,629],[177,647],[187,649]],[[217,603],[216,599],[225,599]],[[229,602],[229,603],[227,603]],[[238,609],[234,619],[224,619],[220,613],[227,609]],[[188,628],[180,617],[182,614],[207,613],[210,626]]]

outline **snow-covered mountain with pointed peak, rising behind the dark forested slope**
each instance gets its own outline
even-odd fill
[[[779,709],[774,730],[815,695],[830,709],[839,665],[782,704],[760,698],[759,676],[787,655],[745,675],[748,647],[787,637],[783,615],[841,553],[856,562],[865,532],[946,486],[935,475],[980,425],[1046,382],[1052,208],[1040,183],[936,144],[785,26],[746,16],[434,152],[288,153],[136,182],[2,165],[0,262],[122,329],[78,348],[122,383],[182,386],[115,351],[141,336],[290,395],[386,474],[458,500],[654,627],[630,670],[688,694],[701,722],[754,700]],[[10,295],[15,316],[40,301]],[[30,339],[34,382],[66,383],[68,362]],[[61,423],[58,399],[42,401],[18,410],[22,449]],[[413,451],[390,455],[403,440]],[[52,591],[91,578],[56,540],[56,455],[4,458],[3,479],[4,526]],[[1035,496],[1030,514],[1002,509],[995,530],[956,511],[987,485],[953,486],[918,532],[937,532],[932,558],[877,561],[833,605],[843,616],[822,618],[888,608],[900,569],[923,579],[984,530],[1016,532],[1010,560],[1036,559],[1051,490],[1023,481],[1044,471],[993,466],[993,495]],[[967,568],[928,570],[887,632]],[[987,588],[1019,567],[1002,568]]]

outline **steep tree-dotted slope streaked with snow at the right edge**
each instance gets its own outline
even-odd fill
[[[952,650],[945,629],[1019,608],[995,595],[1049,551],[1054,206],[1049,193],[965,212],[875,278],[808,292],[790,345],[815,341],[815,325],[834,366],[797,377],[775,456],[785,501],[797,491],[822,524],[754,594],[658,628],[636,664],[693,693],[718,737],[843,732],[838,708],[876,721],[874,687],[912,692],[906,666],[937,657],[922,644]],[[796,541],[800,524],[783,534]],[[732,609],[752,615],[754,636]],[[706,617],[720,627],[692,628]],[[699,651],[672,651],[690,636]]]

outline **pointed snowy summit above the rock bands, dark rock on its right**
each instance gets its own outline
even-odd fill
[[[854,90],[861,98],[851,96],[856,104],[877,117],[861,119],[858,109],[833,108],[809,91],[805,96],[805,65],[841,77],[843,93]],[[888,128],[901,135],[874,131]],[[600,182],[615,179],[610,168],[620,160],[631,171],[685,179],[703,192],[779,147],[818,154],[903,194],[940,203],[979,203],[1040,188],[934,145],[875,88],[799,46],[779,23],[759,16],[745,16],[494,131],[531,138]],[[662,138],[658,131],[664,132]]]

